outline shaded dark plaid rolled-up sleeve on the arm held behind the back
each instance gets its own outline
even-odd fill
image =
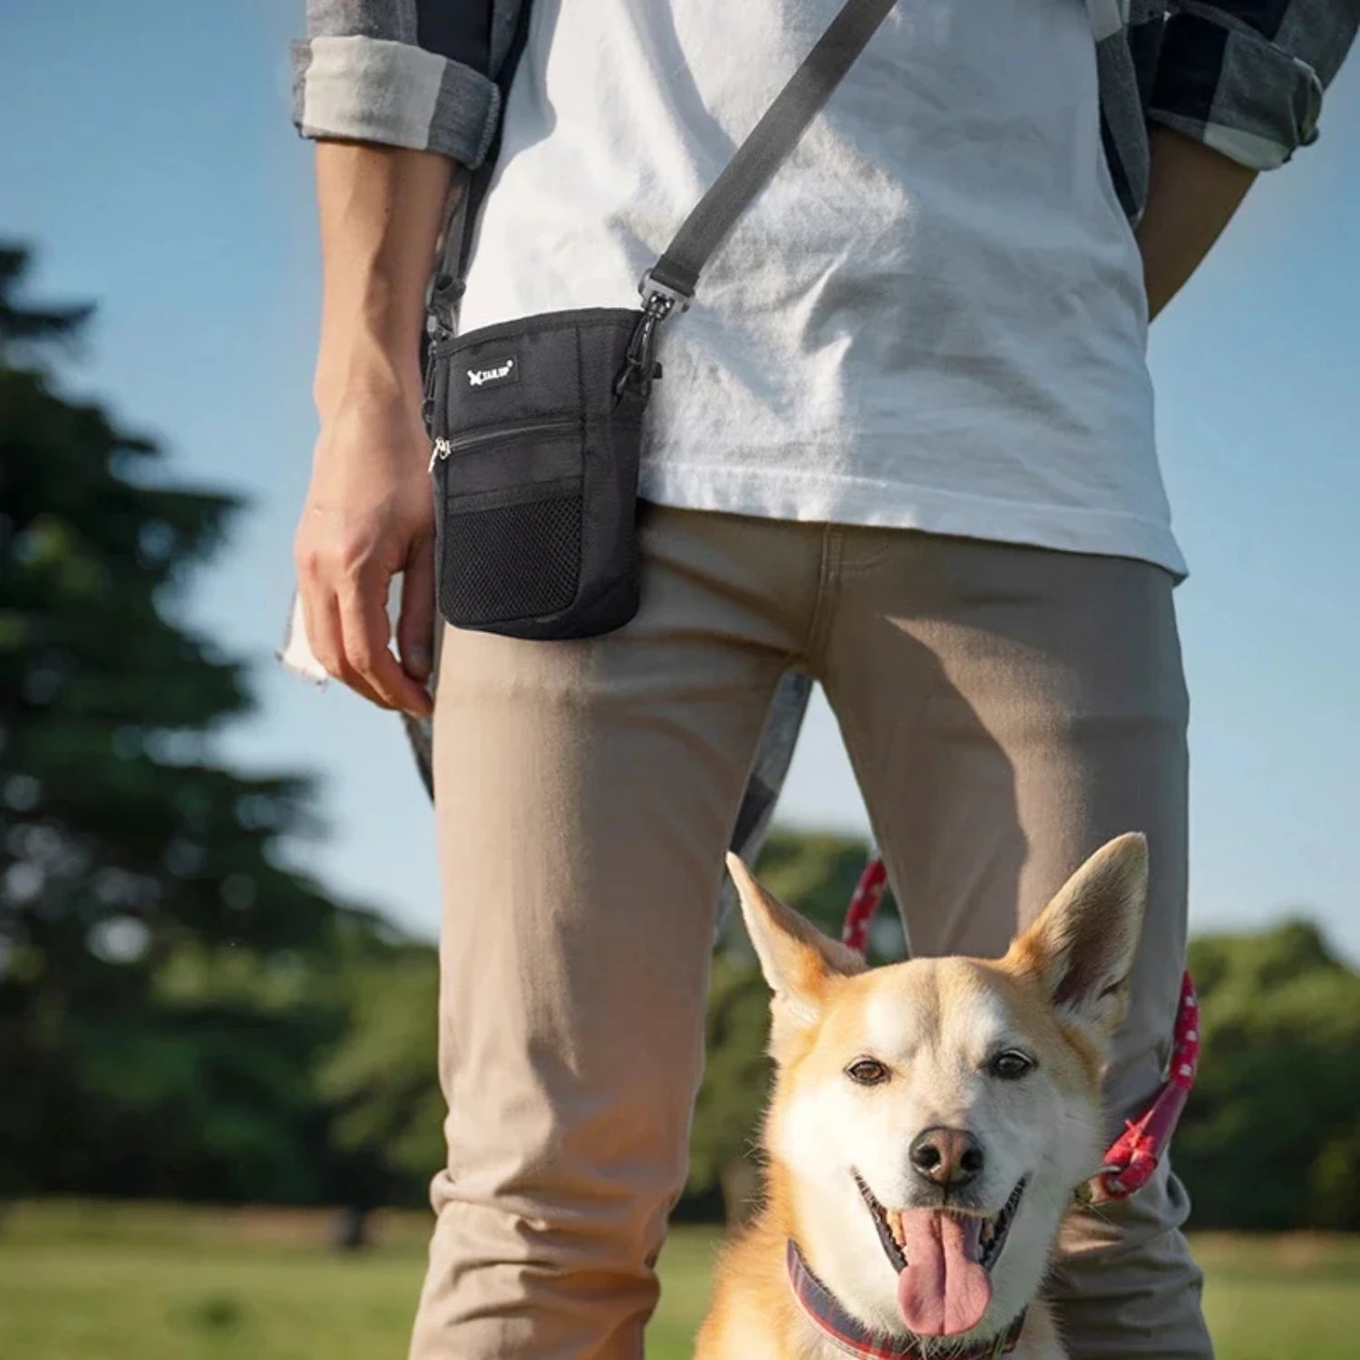
[[[1179,0],[1148,117],[1272,170],[1316,139],[1323,91],[1357,23],[1360,0]]]

